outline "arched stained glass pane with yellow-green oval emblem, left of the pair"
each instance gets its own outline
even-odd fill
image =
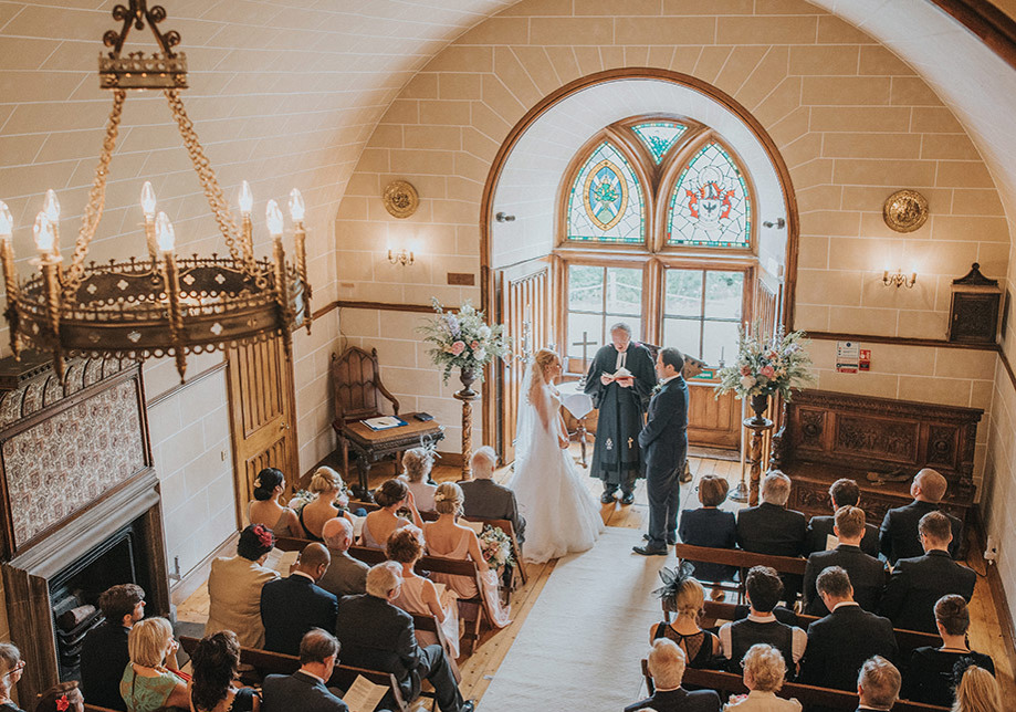
[[[642,189],[620,151],[604,142],[586,160],[568,196],[568,239],[646,240]]]

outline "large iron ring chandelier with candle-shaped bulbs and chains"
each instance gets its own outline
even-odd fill
[[[70,262],[64,264],[60,253],[60,201],[49,190],[33,227],[39,258],[32,264],[39,271],[19,281],[11,247],[13,220],[0,201],[0,262],[15,357],[25,347],[52,353],[56,374],[62,378],[64,359],[70,356],[145,359],[172,355],[181,380],[187,354],[281,337],[286,358],[291,358],[292,331],[302,325],[311,329],[304,202],[300,191],[293,189],[289,201],[295,265],[285,260],[283,217],[274,200],[269,200],[265,209],[272,256],[255,258],[250,186],[243,181],[241,187],[238,227],[184,111],[180,90],[187,88],[187,59],[172,50],[180,35],[176,31],[163,34],[156,28],[166,19],[166,10],[159,6],[148,9],[146,0],[130,0],[129,8],[113,9],[113,19],[122,21],[123,28],[105,33],[103,42],[112,51],[101,54],[98,61],[99,83],[113,92],[113,109]],[[122,56],[130,28],[143,30],[146,21],[160,52],[149,57],[144,52]],[[148,256],[85,263],[88,243],[103,214],[109,161],[128,90],[165,94],[229,256],[176,255],[172,224],[165,212],[157,212],[155,192],[146,181],[140,203]]]

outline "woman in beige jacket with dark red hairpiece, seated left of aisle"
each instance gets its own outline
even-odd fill
[[[275,545],[272,530],[253,524],[240,532],[237,555],[211,563],[208,576],[208,622],[205,635],[232,630],[243,648],[264,647],[261,625],[261,587],[279,578],[263,566]]]

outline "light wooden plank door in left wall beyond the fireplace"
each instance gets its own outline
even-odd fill
[[[290,486],[300,479],[293,365],[273,338],[230,349],[227,371],[237,521],[245,526],[258,472],[277,468]]]

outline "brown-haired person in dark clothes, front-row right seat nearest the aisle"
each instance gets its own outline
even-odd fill
[[[698,510],[681,512],[681,527],[678,534],[684,544],[715,548],[737,547],[737,523],[734,514],[720,509],[729,491],[730,484],[725,478],[706,474],[699,480],[699,502],[702,503],[702,506]],[[695,578],[701,582],[734,580],[734,574],[737,573],[736,566],[725,564],[706,562],[692,562],[692,564],[695,567]]]

